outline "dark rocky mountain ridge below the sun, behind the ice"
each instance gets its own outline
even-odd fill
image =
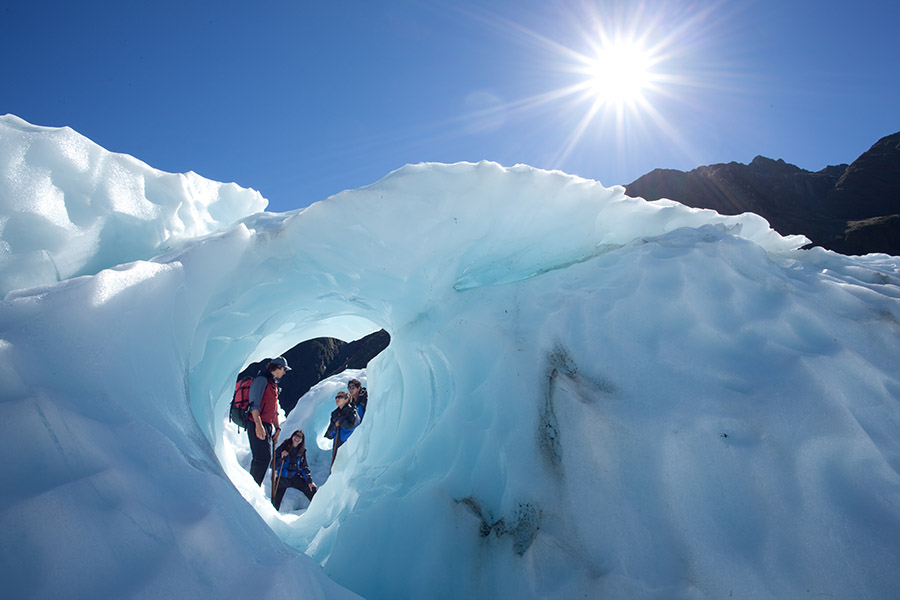
[[[669,198],[722,214],[754,212],[781,234],[845,254],[900,254],[900,133],[851,165],[811,172],[757,156],[688,173],[657,169],[625,186],[629,196]]]

